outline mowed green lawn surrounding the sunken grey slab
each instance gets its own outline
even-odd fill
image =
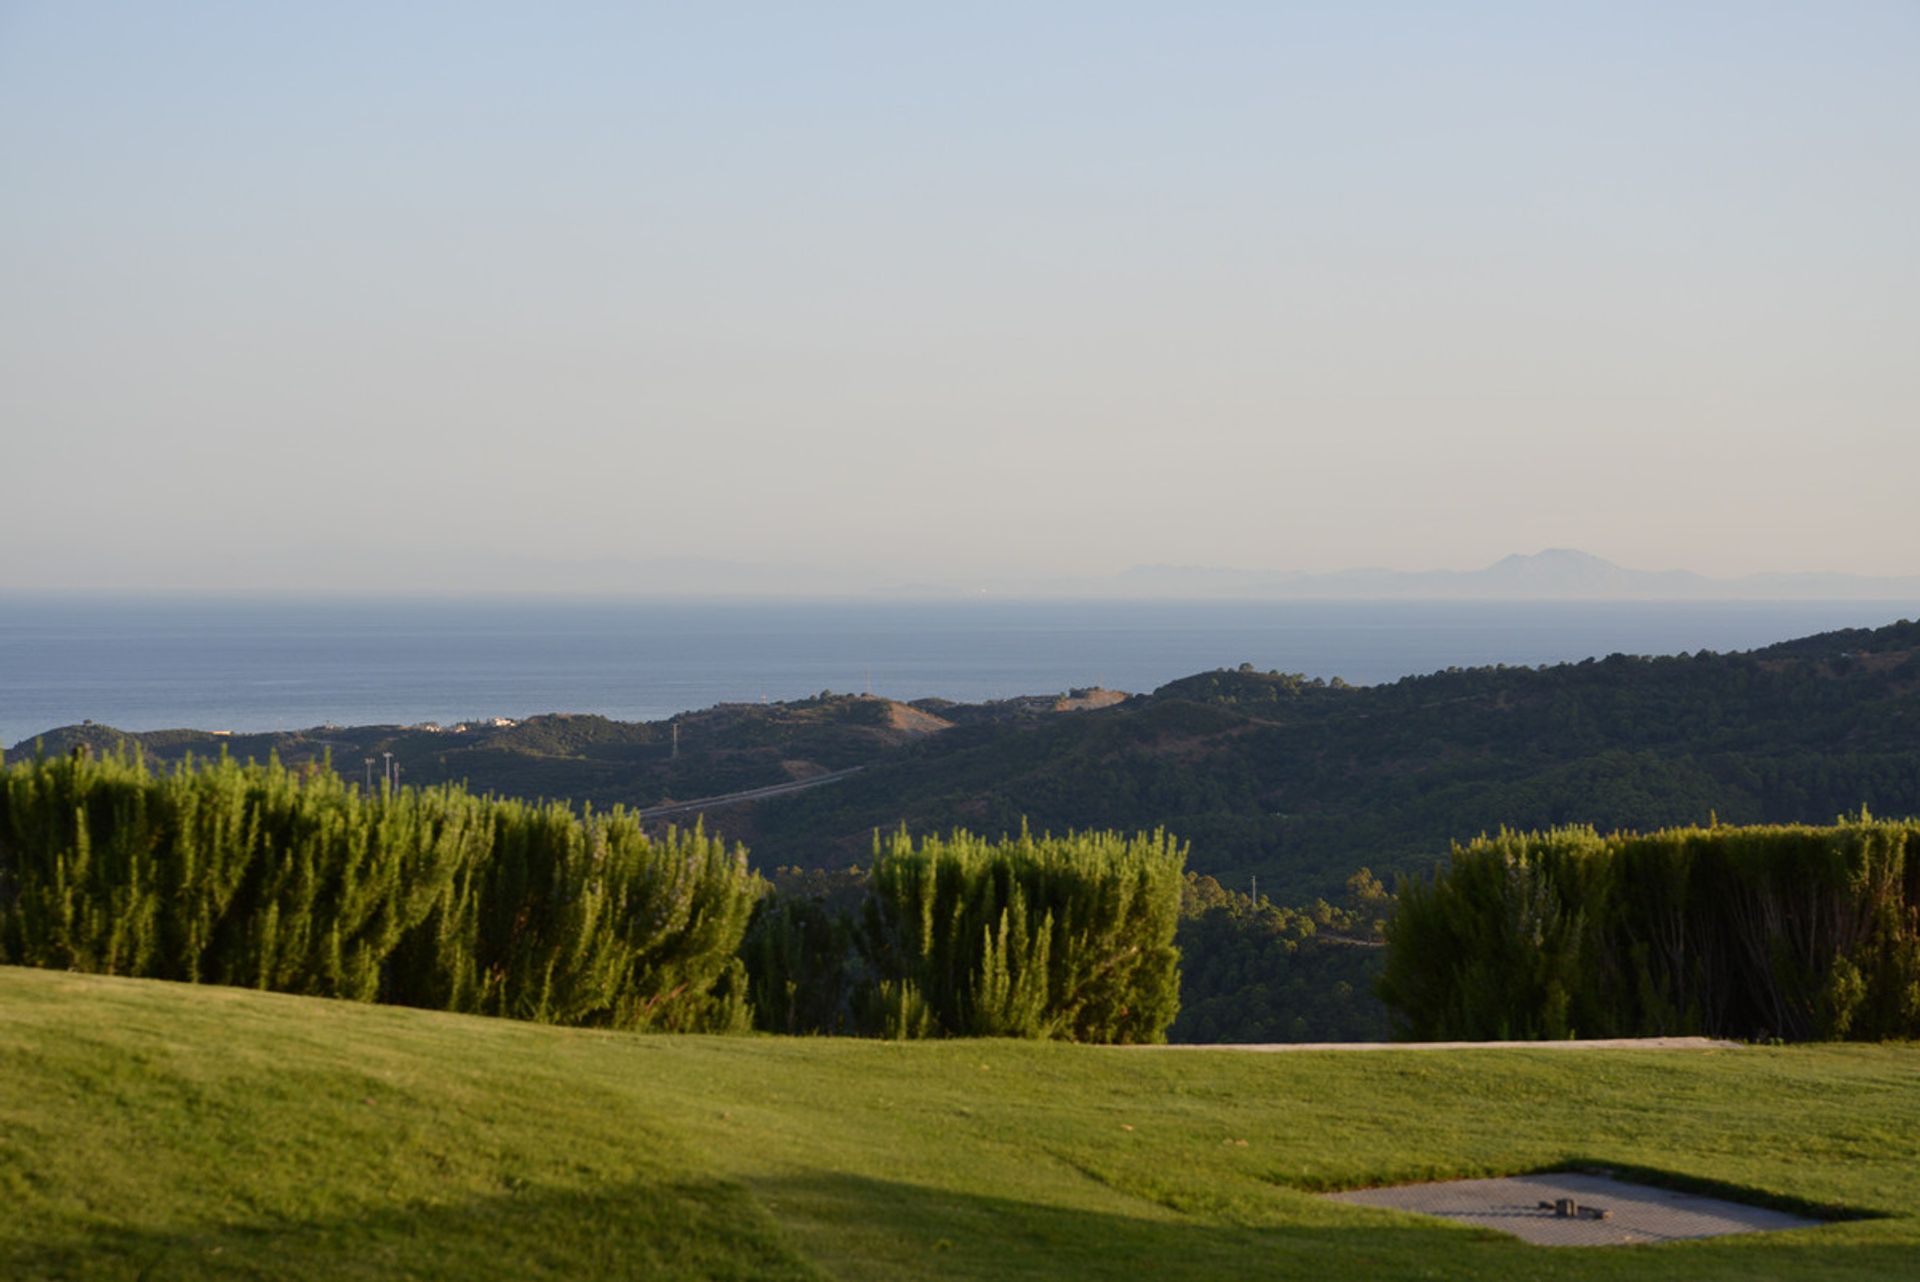
[[[1841,1205],[1544,1249],[1311,1190],[1586,1159]],[[637,1036],[0,969],[4,1278],[1920,1274],[1920,1046]]]

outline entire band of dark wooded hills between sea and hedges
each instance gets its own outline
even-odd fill
[[[874,829],[1165,827],[1192,867],[1275,902],[1338,898],[1356,867],[1428,867],[1500,825],[1832,821],[1920,814],[1920,624],[1743,654],[1467,668],[1350,687],[1250,666],[1119,702],[1104,691],[991,704],[828,695],[674,722],[138,735],[148,752],[330,754],[349,779],[392,752],[409,783],[651,806],[860,773],[708,825],[760,867],[866,864]],[[678,750],[676,731],[678,725]],[[46,735],[117,741],[106,727]],[[21,745],[19,750],[31,750]]]

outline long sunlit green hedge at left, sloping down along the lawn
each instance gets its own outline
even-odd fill
[[[0,962],[547,1023],[747,1021],[764,883],[701,831],[332,770],[0,768]]]

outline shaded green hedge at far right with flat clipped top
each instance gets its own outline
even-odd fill
[[[1920,823],[1500,833],[1404,881],[1411,1038],[1920,1036]]]

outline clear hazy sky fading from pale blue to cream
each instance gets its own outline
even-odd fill
[[[0,587],[1920,572],[1920,4],[0,0]]]

